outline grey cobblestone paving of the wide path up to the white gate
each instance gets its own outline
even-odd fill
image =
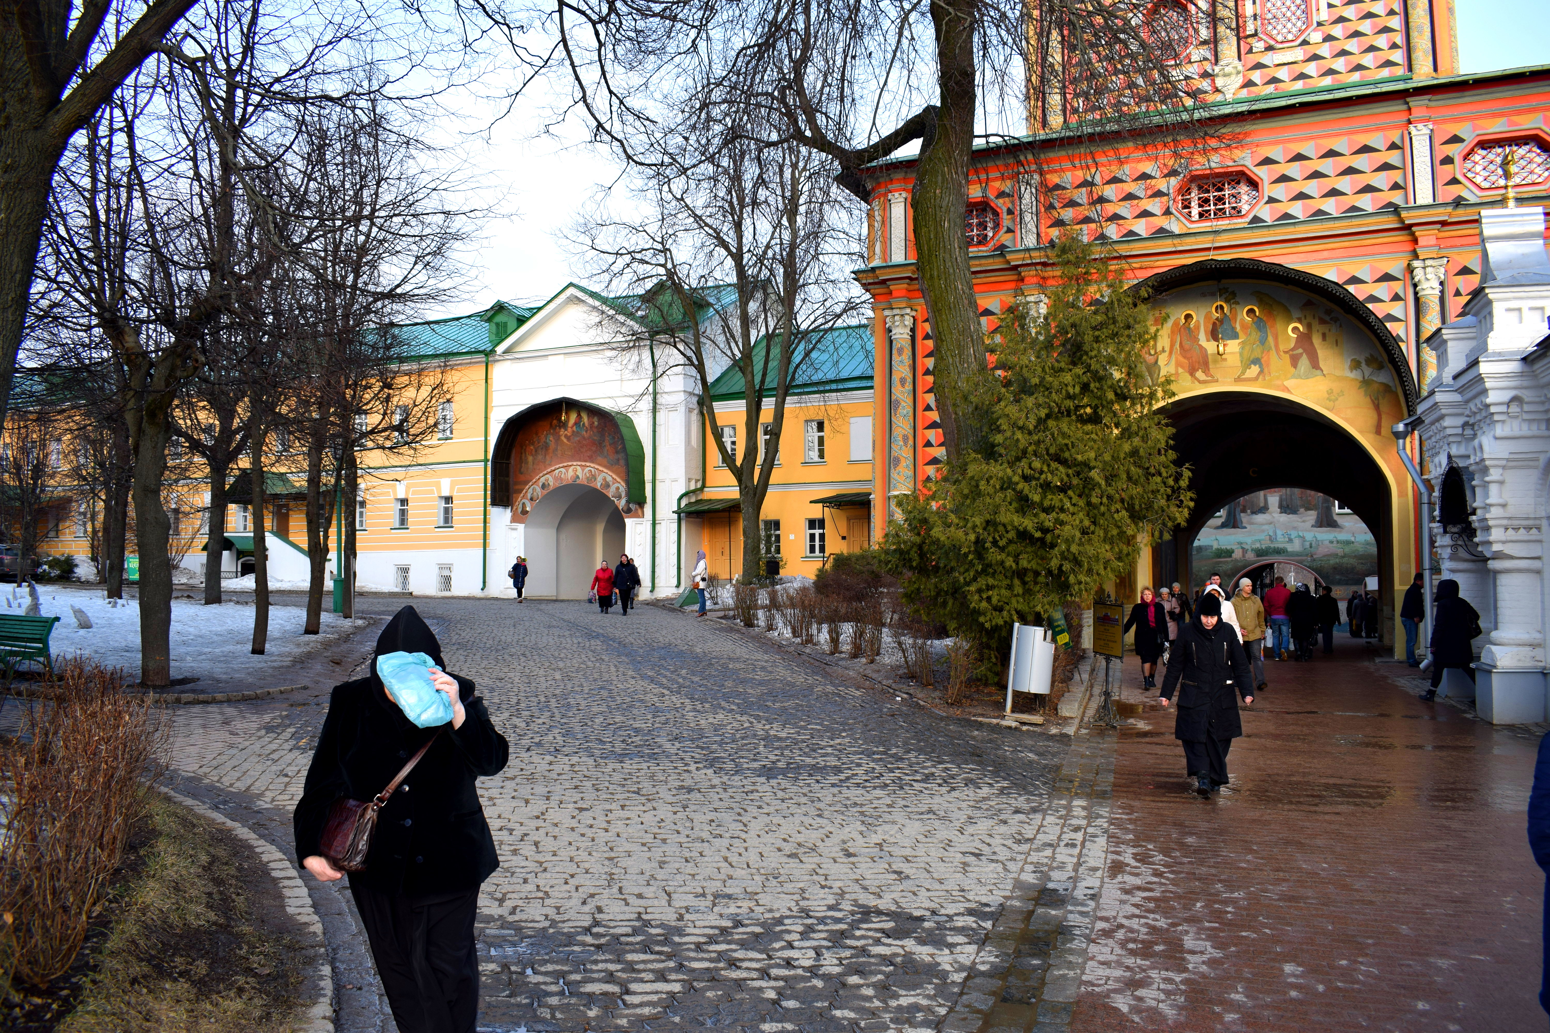
[[[482,1028],[925,1030],[961,1004],[1068,737],[950,722],[662,609],[415,606],[512,740],[480,784],[502,858]],[[273,824],[326,705],[180,708],[175,765]],[[391,1028],[369,1004],[341,1025]]]

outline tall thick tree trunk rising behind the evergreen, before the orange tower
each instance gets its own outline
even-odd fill
[[[964,214],[975,129],[975,3],[932,3],[941,105],[921,141],[911,204],[916,271],[936,353],[936,403],[949,458],[980,440],[973,393],[987,378]]]

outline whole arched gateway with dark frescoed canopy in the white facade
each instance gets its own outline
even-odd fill
[[[527,556],[527,595],[580,599],[598,561],[618,562],[625,522],[646,502],[640,437],[628,415],[553,398],[501,427],[490,496],[510,510]]]

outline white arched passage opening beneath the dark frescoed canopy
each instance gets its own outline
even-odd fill
[[[592,571],[625,551],[625,517],[591,485],[558,485],[527,516],[527,595],[584,599]]]

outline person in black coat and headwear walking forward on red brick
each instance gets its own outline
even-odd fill
[[[1178,691],[1173,737],[1184,743],[1184,764],[1201,796],[1228,784],[1228,751],[1243,734],[1238,695],[1254,702],[1251,677],[1238,633],[1221,619],[1221,599],[1201,596],[1195,619],[1173,640],[1161,694],[1167,706]]]

